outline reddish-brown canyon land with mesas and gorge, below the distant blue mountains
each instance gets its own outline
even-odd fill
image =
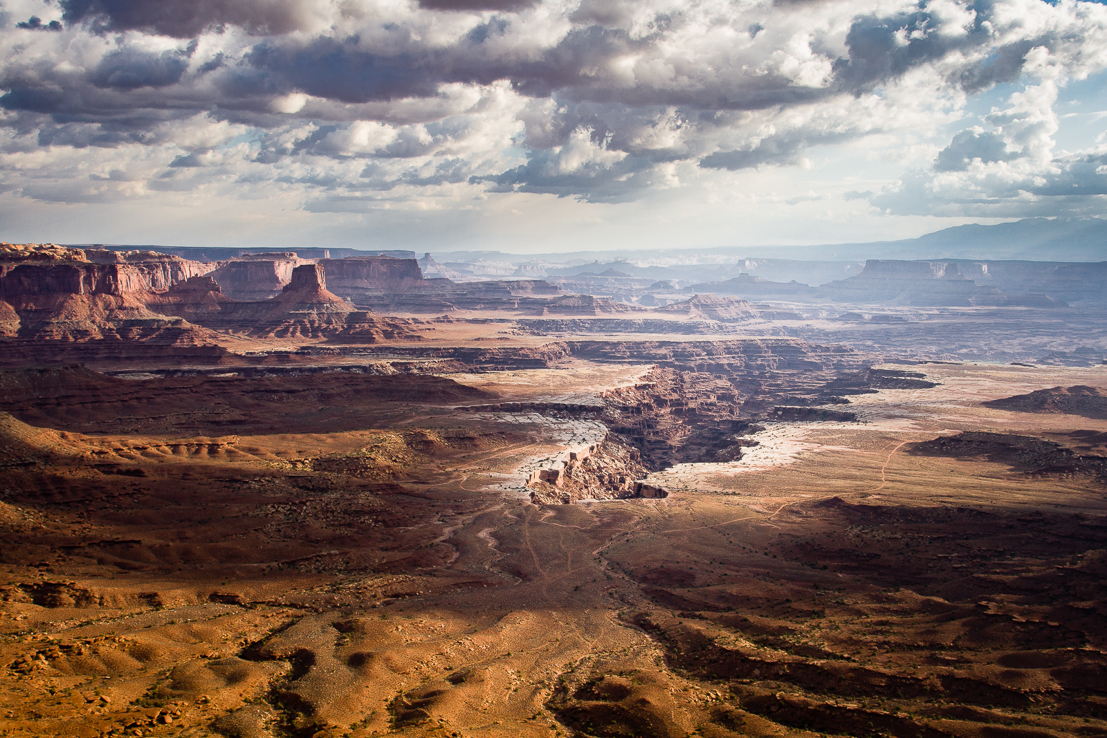
[[[0,246],[4,735],[1107,735],[1100,264],[176,251]]]

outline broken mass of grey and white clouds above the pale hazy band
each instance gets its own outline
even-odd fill
[[[933,137],[1000,83],[1004,106],[873,205],[996,214],[1101,197],[1103,152],[1054,144],[1057,91],[1107,69],[1093,2],[17,4],[37,22],[0,30],[0,187],[25,197],[624,201],[805,166],[816,147]]]

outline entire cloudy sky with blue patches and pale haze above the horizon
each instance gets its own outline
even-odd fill
[[[811,245],[1107,217],[1107,6],[2,0],[0,239]]]

